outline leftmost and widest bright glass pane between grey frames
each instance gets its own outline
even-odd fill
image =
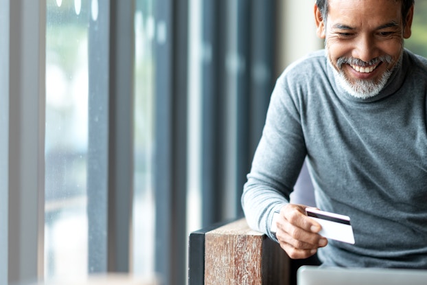
[[[47,0],[45,278],[87,273],[89,0]]]

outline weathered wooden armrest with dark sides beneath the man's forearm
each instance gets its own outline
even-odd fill
[[[244,218],[189,236],[189,285],[292,285],[303,264],[318,260],[290,260],[277,242],[250,229]]]

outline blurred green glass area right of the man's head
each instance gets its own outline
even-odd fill
[[[421,56],[427,57],[427,1],[415,1],[412,35],[405,41],[405,46]]]

